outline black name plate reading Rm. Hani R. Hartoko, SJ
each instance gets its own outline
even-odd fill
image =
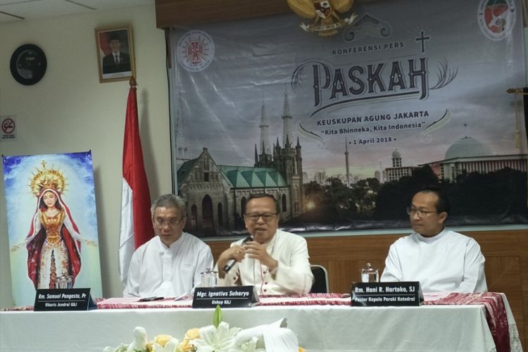
[[[420,306],[424,301],[420,282],[353,282],[352,306]]]

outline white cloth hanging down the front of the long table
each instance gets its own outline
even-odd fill
[[[242,328],[286,317],[307,351],[496,351],[482,305],[258,306],[225,308],[222,313],[230,326]],[[187,329],[212,321],[213,309],[3,311],[0,351],[102,351],[131,342],[136,326],[146,329],[149,340],[157,334],[181,340]]]

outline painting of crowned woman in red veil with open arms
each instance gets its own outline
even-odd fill
[[[36,289],[89,288],[101,297],[92,153],[4,156],[15,306]]]

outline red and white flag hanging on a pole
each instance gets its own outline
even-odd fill
[[[130,80],[125,117],[125,142],[122,152],[121,227],[119,234],[119,272],[127,282],[128,267],[134,251],[153,237],[149,182],[139,139],[137,98],[134,77]]]

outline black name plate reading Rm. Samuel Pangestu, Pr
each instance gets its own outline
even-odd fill
[[[33,310],[89,310],[97,308],[90,289],[37,289]]]

